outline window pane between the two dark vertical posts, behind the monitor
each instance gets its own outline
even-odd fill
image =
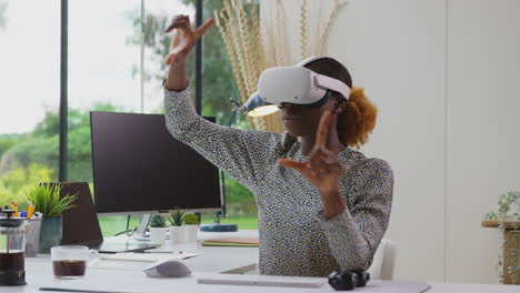
[[[181,1],[69,1],[69,181],[89,182],[93,192],[90,111],[163,112],[161,82],[169,49],[163,30],[171,11],[194,18],[194,8]],[[124,215],[99,219],[103,235],[126,230]],[[134,216],[131,226],[137,224]]]

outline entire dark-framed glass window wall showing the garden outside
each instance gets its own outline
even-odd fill
[[[203,1],[203,20],[221,1]],[[30,8],[30,9],[28,9]],[[68,1],[68,181],[91,184],[90,111],[162,113],[161,82],[174,14],[196,21],[196,0]],[[60,1],[0,0],[0,205],[23,188],[58,180],[60,129]],[[36,26],[38,28],[36,28]],[[142,26],[142,27],[141,27]],[[34,30],[38,29],[38,33]],[[237,87],[218,29],[207,31],[202,114],[227,124]],[[196,52],[189,80],[196,98]],[[247,128],[242,114],[233,127]],[[257,228],[251,193],[226,176],[230,219]],[[126,229],[126,216],[100,216],[104,235]],[[134,226],[138,219],[132,219]],[[212,222],[213,214],[203,215]]]

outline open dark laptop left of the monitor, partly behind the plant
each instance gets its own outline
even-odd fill
[[[127,241],[104,240],[89,184],[87,182],[60,182],[59,184],[61,185],[60,196],[64,196],[66,194],[77,195],[77,199],[72,203],[76,208],[64,211],[62,215],[63,232],[61,245],[84,245],[101,253],[142,251],[159,246],[159,244],[130,239]]]

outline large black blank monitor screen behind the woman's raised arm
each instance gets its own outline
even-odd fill
[[[221,208],[218,169],[174,139],[164,115],[91,112],[90,122],[98,213]]]

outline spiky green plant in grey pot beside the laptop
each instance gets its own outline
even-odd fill
[[[61,242],[61,214],[74,208],[72,203],[77,195],[60,196],[61,185],[47,183],[33,185],[21,195],[27,204],[32,203],[34,211],[42,214],[38,251],[48,253],[52,246]]]

